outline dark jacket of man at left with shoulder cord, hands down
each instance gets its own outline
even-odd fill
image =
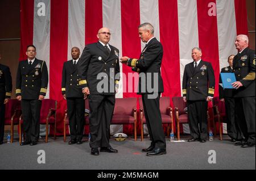
[[[31,68],[28,60],[19,62],[16,77],[16,96],[22,99],[38,99],[39,95],[46,95],[48,85],[48,70],[46,62],[35,58]]]

